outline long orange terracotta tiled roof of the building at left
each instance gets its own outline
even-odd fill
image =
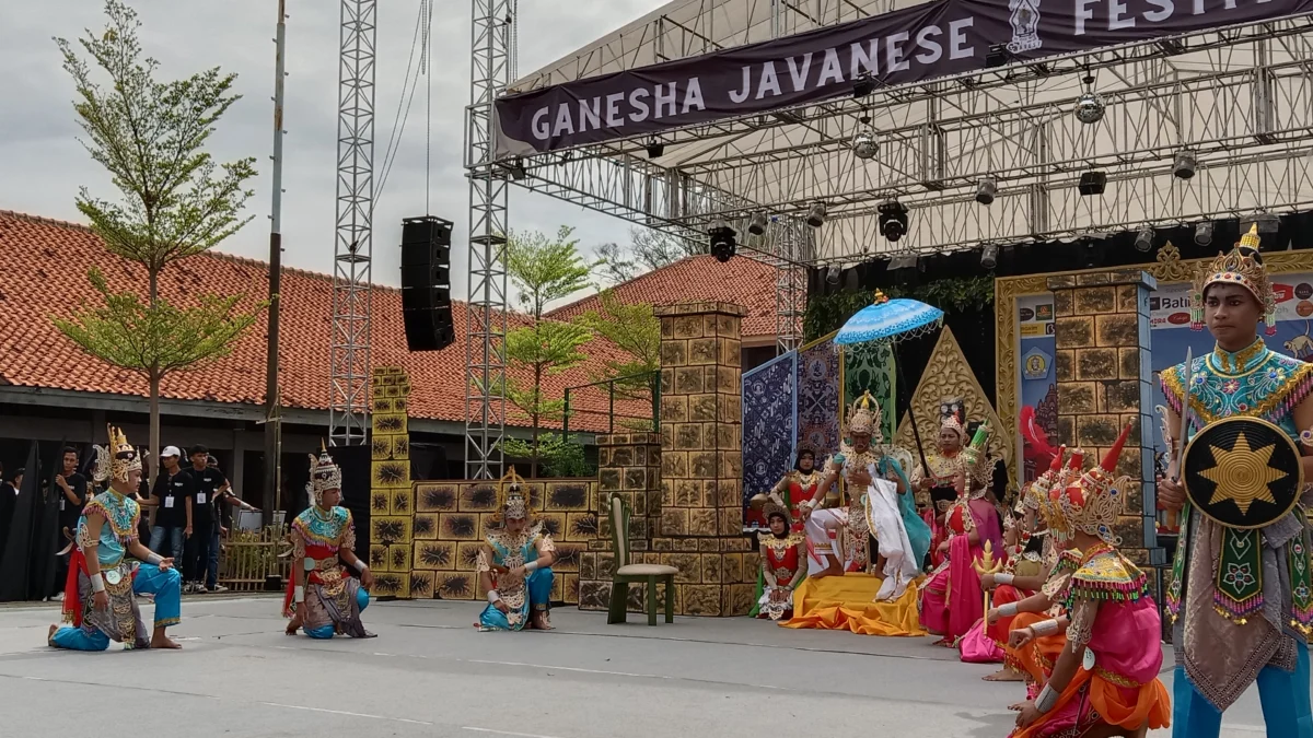
[[[98,299],[87,281],[87,269],[98,267],[116,290],[146,290],[140,267],[110,255],[85,226],[0,210],[0,385],[50,387],[146,397],[138,376],[92,358],[63,336],[51,315],[67,315],[83,299]],[[223,253],[205,253],[171,264],[160,278],[160,293],[175,303],[188,303],[198,293],[248,297],[249,310],[268,289],[267,264]],[[374,366],[402,365],[411,377],[410,414],[435,420],[465,420],[466,305],[452,306],[456,343],[439,352],[410,353],[402,326],[400,290],[373,289],[372,360]],[[332,316],[332,278],[328,274],[284,269],[282,345],[280,380],[289,407],[327,410],[328,345]],[[511,328],[527,318],[512,314]],[[230,403],[264,402],[267,331],[261,318],[217,364],[179,372],[164,380],[161,394],[171,399]],[[590,361],[546,380],[559,397],[566,386],[582,385],[600,374],[608,358],[622,360],[612,344],[595,339]],[[595,393],[596,394],[596,393]],[[583,398],[576,403],[584,402]],[[601,404],[599,410],[604,408]],[[572,427],[596,429],[597,416],[580,416]],[[523,424],[523,423],[512,423]]]

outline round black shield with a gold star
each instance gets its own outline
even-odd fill
[[[1258,418],[1209,423],[1186,446],[1190,503],[1228,528],[1262,528],[1295,508],[1304,486],[1300,452]]]

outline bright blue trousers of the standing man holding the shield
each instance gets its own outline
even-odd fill
[[[1258,697],[1263,703],[1263,722],[1268,738],[1313,738],[1313,709],[1309,700],[1309,650],[1297,645],[1293,672],[1268,666],[1258,672]],[[1180,738],[1217,738],[1222,713],[1190,683],[1186,668],[1176,667],[1173,678],[1171,734]]]

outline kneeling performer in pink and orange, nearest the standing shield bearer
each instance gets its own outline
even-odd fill
[[[1067,615],[1036,622],[1036,634],[1066,628],[1067,642],[1044,689],[1027,700],[1014,738],[1138,735],[1165,727],[1171,710],[1162,667],[1162,620],[1149,578],[1116,545],[1113,525],[1129,478],[1112,478],[1130,425],[1103,464],[1061,492],[1058,506],[1085,552],[1071,575]]]

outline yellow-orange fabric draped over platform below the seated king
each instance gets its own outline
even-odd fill
[[[916,615],[916,584],[892,603],[876,603],[881,579],[871,574],[807,579],[793,591],[793,620],[784,628],[851,630],[861,636],[924,636]]]

